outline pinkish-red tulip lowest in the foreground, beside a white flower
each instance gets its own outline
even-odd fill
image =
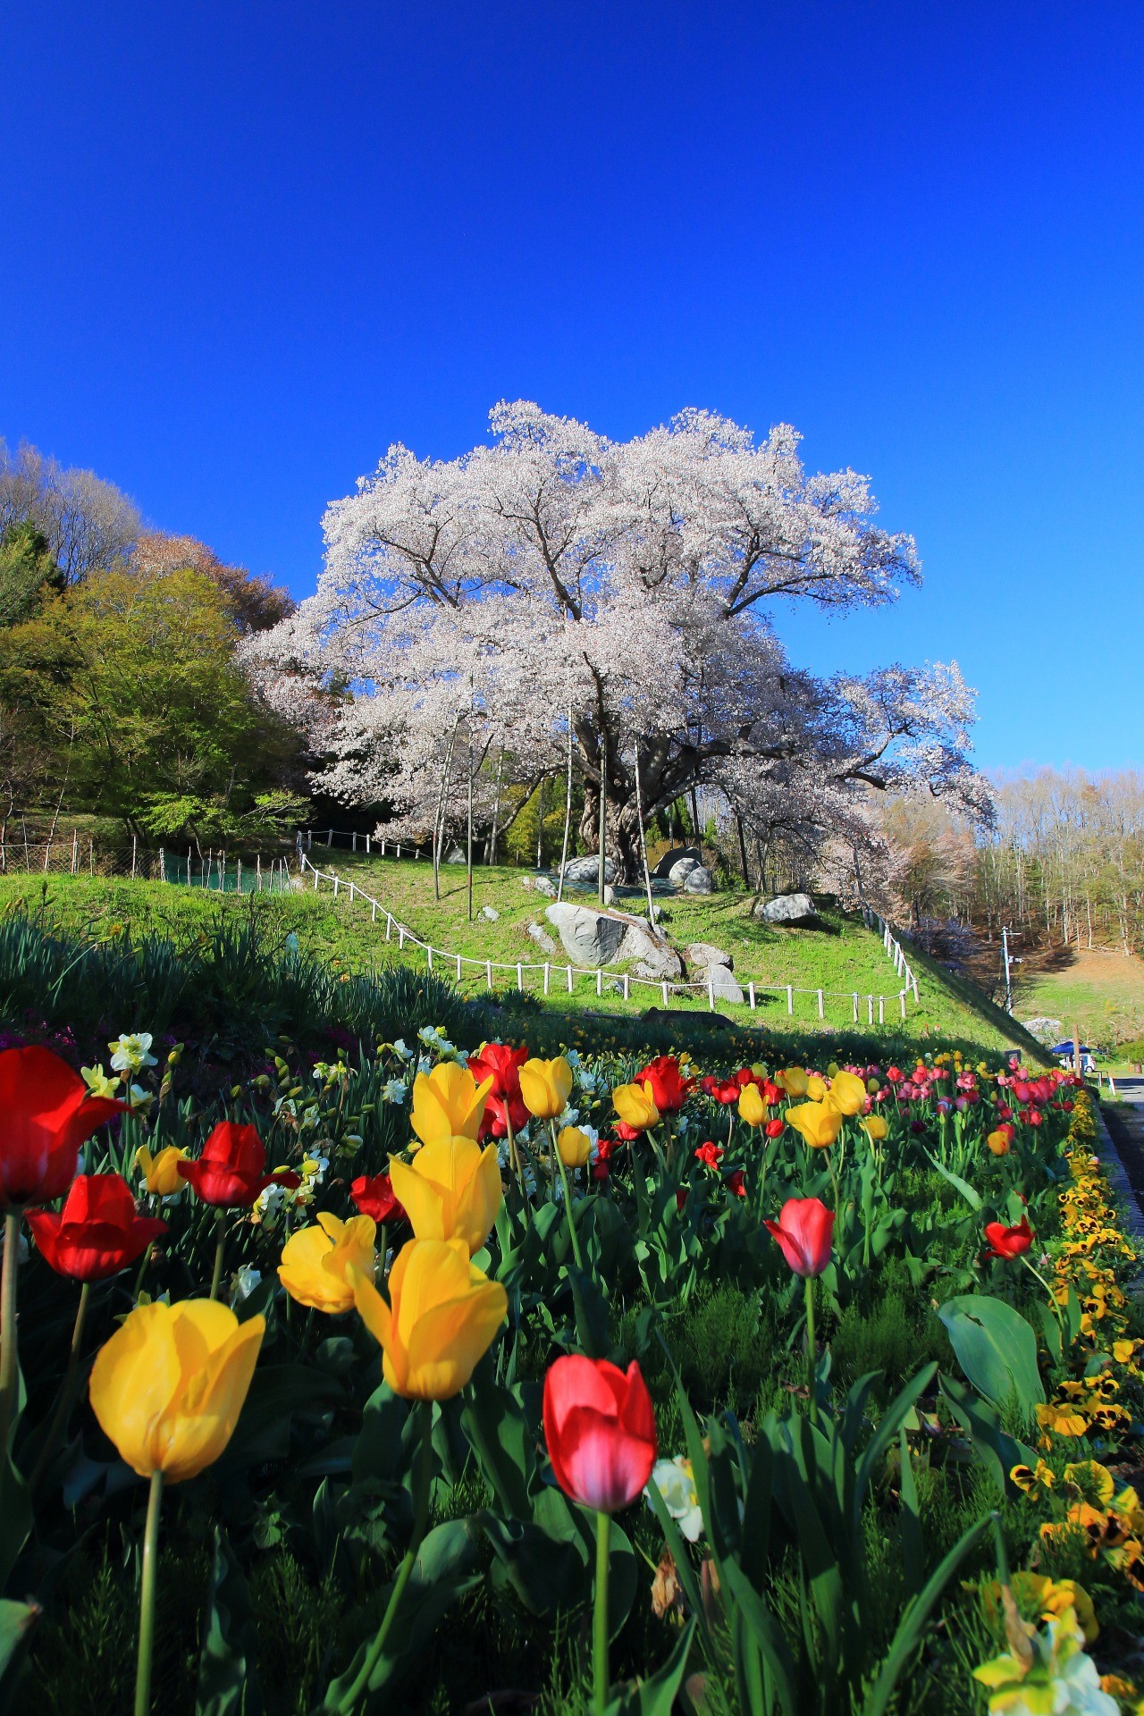
[[[655,1465],[655,1412],[640,1366],[568,1354],[544,1378],[544,1440],[557,1484],[581,1507],[616,1514]]]

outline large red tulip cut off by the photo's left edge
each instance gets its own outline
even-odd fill
[[[75,1179],[79,1146],[125,1102],[89,1097],[50,1048],[0,1054],[0,1208],[51,1203]]]

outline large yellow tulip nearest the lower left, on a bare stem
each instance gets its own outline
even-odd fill
[[[211,1465],[235,1433],[266,1320],[213,1299],[139,1304],[96,1354],[91,1405],[122,1457],[172,1484]]]

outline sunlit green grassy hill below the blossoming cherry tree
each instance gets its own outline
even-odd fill
[[[477,872],[475,916],[473,921],[468,921],[465,873],[460,867],[443,868],[441,899],[436,899],[432,872],[427,865],[365,858],[364,855],[355,858],[346,853],[319,855],[316,851],[314,858],[324,870],[369,889],[401,923],[439,949],[511,966],[518,961],[525,966],[535,966],[544,959],[537,944],[528,937],[527,927],[545,923],[544,906],[547,901],[523,885],[527,872],[515,868]],[[590,896],[585,894],[571,897],[590,903]],[[132,934],[161,934],[180,944],[206,935],[220,911],[230,915],[250,909],[249,901],[233,894],[204,894],[201,889],[160,882],[0,877],[0,911],[17,903],[29,909],[43,909],[51,921],[69,930],[86,930],[103,937],[117,935],[123,927],[130,927]],[[638,899],[624,899],[621,904],[629,911],[640,909]],[[484,906],[494,908],[497,913],[494,921],[480,915]],[[743,892],[672,896],[662,906],[660,915],[665,920],[665,928],[677,946],[683,947],[693,940],[715,942],[732,954],[736,976],[744,990],[751,980],[760,985],[755,1014],[746,1007],[727,1004],[720,1007],[734,1019],[736,1026],[758,1024],[772,1036],[786,1031],[796,1031],[799,1036],[816,1031],[851,1031],[852,1004],[849,997],[858,992],[861,997],[859,1028],[863,1031],[870,1030],[864,997],[871,994],[885,997],[885,1035],[897,1040],[924,1043],[957,1038],[990,1050],[1012,1045],[1029,1052],[1033,1047],[1015,1021],[993,1007],[974,985],[950,978],[924,956],[911,956],[918,970],[919,1004],[914,1004],[911,997],[907,1018],[902,1021],[897,1004],[897,973],[885,956],[880,939],[866,930],[859,920],[827,913],[825,930],[774,928],[751,918],[751,896]],[[283,937],[295,935],[304,952],[321,956],[336,971],[360,975],[396,964],[406,964],[413,970],[425,968],[425,954],[413,947],[400,952],[396,939],[386,942],[384,923],[372,921],[370,908],[364,901],[350,903],[346,889],[341,889],[341,897],[336,901],[328,885],[319,892],[305,887],[285,896],[262,896],[256,909],[262,911]],[[563,952],[552,956],[554,968],[557,963],[563,968]],[[453,968],[441,959],[436,961],[436,971],[455,980]],[[539,971],[525,973],[528,1006],[542,1007],[556,1016],[583,1016],[588,1011],[635,1018],[645,1007],[660,1004],[659,992],[648,988],[633,988],[631,999],[624,1002],[623,995],[614,992],[616,985],[609,985],[607,978],[602,985],[604,994],[597,995],[595,980],[590,976],[576,978],[575,992],[569,995],[563,970],[559,982],[554,971],[552,992],[547,997],[540,994],[540,985]],[[765,994],[762,985],[768,985],[779,994]],[[792,1016],[787,1012],[786,985],[792,985],[796,990]],[[473,997],[485,995],[484,970],[465,968],[458,988]],[[496,973],[494,988],[516,988],[515,973]],[[823,1021],[818,1019],[816,995],[806,994],[818,988],[827,992]],[[671,1006],[672,1012],[707,1011],[705,997],[672,997]],[[871,1035],[878,1035],[876,1024]]]

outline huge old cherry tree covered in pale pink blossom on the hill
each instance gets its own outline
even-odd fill
[[[437,832],[472,789],[487,831],[508,786],[563,776],[571,726],[580,841],[599,849],[604,793],[623,880],[640,813],[695,786],[760,836],[858,827],[882,791],[979,805],[955,666],[820,680],[775,631],[782,602],[846,611],[918,582],[912,539],[876,523],[864,477],[808,475],[792,429],[756,444],[701,410],[631,441],[528,402],[491,427],[456,460],[393,446],[329,506],[316,595],[245,647],[280,695],[283,674],[298,695],[348,688],[326,791]]]

